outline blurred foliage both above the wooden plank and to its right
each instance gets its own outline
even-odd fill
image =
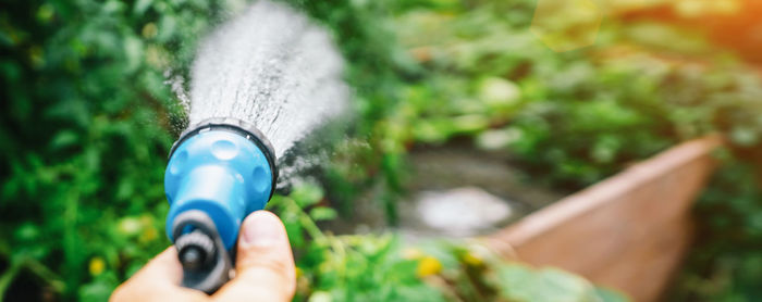
[[[654,21],[609,20],[595,46],[555,53],[527,32],[528,1],[414,3],[396,12],[396,30],[426,77],[404,90],[404,144],[472,138],[514,155],[529,181],[575,191],[668,146],[722,133],[733,156],[701,198],[705,236],[675,291],[684,300],[755,300],[757,70],[696,32]]]

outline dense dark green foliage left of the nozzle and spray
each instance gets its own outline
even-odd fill
[[[217,10],[211,1],[3,9],[0,255],[19,267],[3,277],[30,274],[53,295],[102,301],[168,244],[160,184],[168,129],[182,113],[163,74],[188,62]]]

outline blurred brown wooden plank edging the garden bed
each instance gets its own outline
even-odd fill
[[[655,301],[692,234],[691,204],[720,137],[683,143],[486,238],[506,256],[556,266]]]

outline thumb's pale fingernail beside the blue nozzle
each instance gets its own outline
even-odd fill
[[[242,243],[247,246],[270,247],[278,243],[283,231],[278,217],[269,212],[255,212],[244,221]]]

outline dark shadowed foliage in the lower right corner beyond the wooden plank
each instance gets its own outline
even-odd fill
[[[672,300],[757,301],[762,297],[762,192],[759,172],[727,160],[697,207],[697,251]]]

